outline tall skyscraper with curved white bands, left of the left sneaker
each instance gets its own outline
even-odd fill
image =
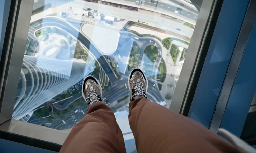
[[[13,119],[19,120],[82,80],[85,69],[85,63],[24,55]]]

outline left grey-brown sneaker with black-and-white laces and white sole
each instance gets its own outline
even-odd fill
[[[88,107],[102,100],[102,88],[99,81],[93,76],[88,76],[84,79],[82,85],[82,96],[88,104]]]

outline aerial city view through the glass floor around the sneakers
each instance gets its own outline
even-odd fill
[[[148,99],[169,108],[198,14],[189,0],[35,0],[13,119],[72,128],[93,75],[118,124],[129,125],[134,68],[148,78]]]

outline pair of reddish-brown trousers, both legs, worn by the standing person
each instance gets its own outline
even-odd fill
[[[129,124],[138,153],[238,152],[201,124],[146,98],[129,103]],[[60,153],[125,153],[113,111],[95,103],[71,130]]]

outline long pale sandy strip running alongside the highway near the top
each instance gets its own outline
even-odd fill
[[[79,8],[91,8],[91,9],[97,10],[98,13],[102,13],[104,15],[120,17],[126,20],[135,21],[135,22],[138,19],[141,21],[151,23],[152,26],[154,25],[154,26],[157,26],[158,28],[173,31],[184,36],[191,37],[194,31],[192,28],[189,28],[183,25],[182,23],[178,23],[176,21],[166,19],[154,13],[152,14],[140,13],[137,11],[130,11],[127,9],[122,9],[122,8],[117,8],[117,7],[112,7],[108,5],[102,5],[102,4],[100,5],[97,3],[85,2],[85,1],[71,1],[69,3],[65,1],[59,1],[59,0],[48,0],[48,1],[55,2],[56,6],[63,5],[64,8],[68,8],[69,6],[79,7]],[[170,5],[170,7],[171,6],[172,5]],[[174,6],[172,7],[173,7],[172,11],[174,11],[176,7]],[[195,18],[193,17],[193,19]],[[177,31],[176,28],[180,28],[181,31]]]

